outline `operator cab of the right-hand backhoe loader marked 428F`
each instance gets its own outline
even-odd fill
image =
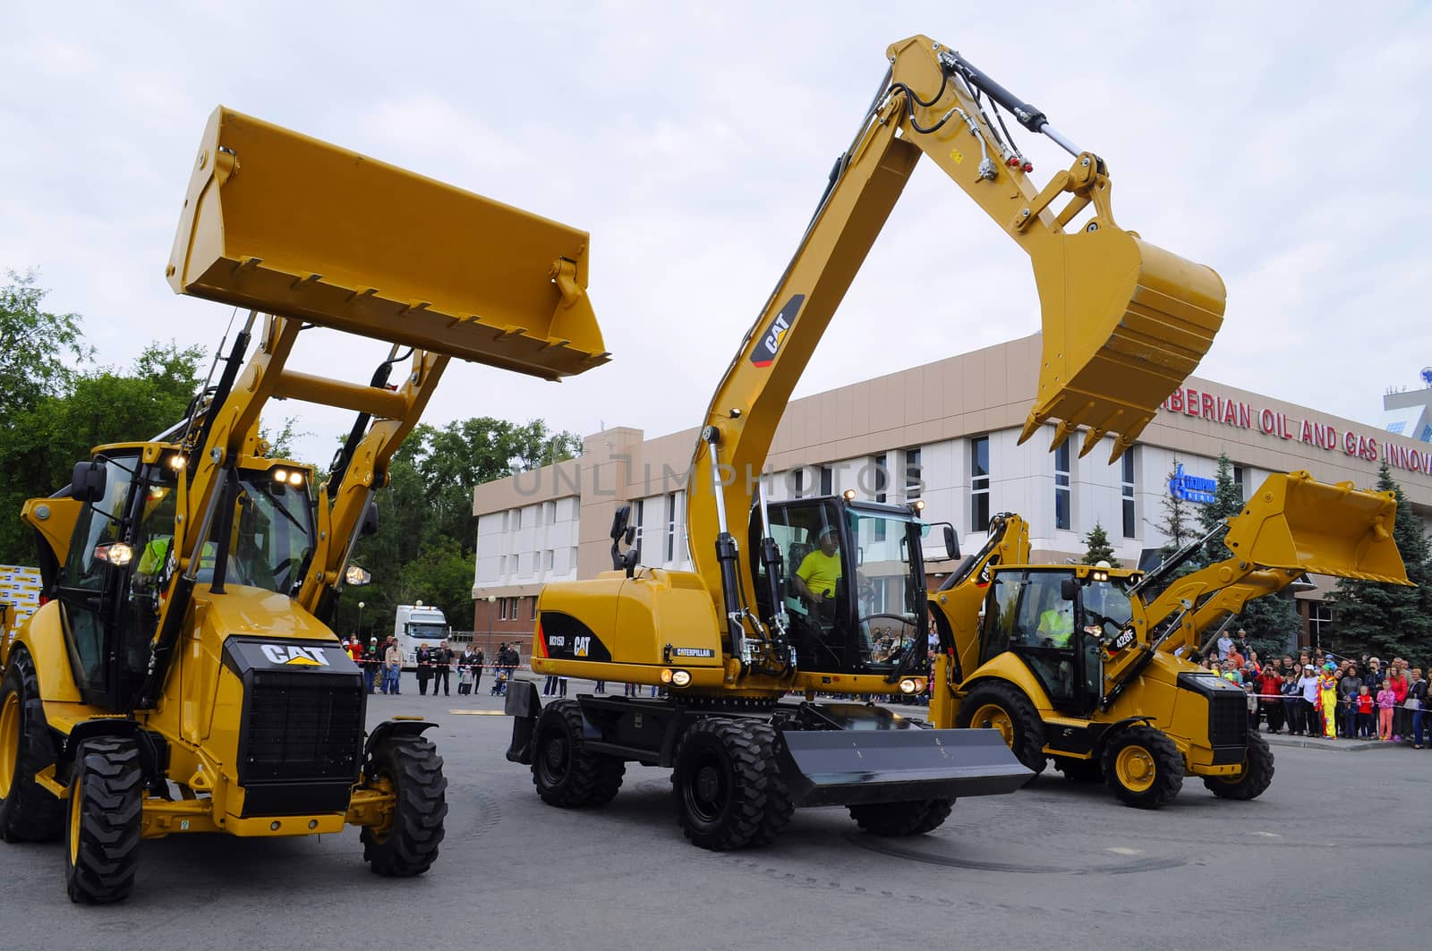
[[[995,569],[979,663],[1012,652],[1054,708],[1084,716],[1103,700],[1104,649],[1133,616],[1136,579],[1093,566]]]

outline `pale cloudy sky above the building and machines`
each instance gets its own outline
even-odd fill
[[[163,266],[223,103],[591,233],[613,362],[561,384],[457,365],[428,421],[669,433],[699,423],[886,44],[925,33],[1104,156],[1120,225],[1223,275],[1200,375],[1376,421],[1432,364],[1432,4],[683,6],[4,4],[0,269],[37,269],[102,362],[212,352],[229,308]],[[1017,137],[1040,182],[1067,165]],[[1022,252],[927,163],[798,395],[1037,328]],[[321,349],[354,381],[385,352],[305,337],[301,368]],[[347,417],[301,428],[326,463]]]

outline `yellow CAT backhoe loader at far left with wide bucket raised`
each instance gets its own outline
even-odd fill
[[[374,493],[453,358],[548,380],[607,359],[587,243],[213,113],[168,276],[248,321],[173,430],[96,448],[24,506],[49,600],[3,659],[0,836],[63,838],[77,902],[125,898],[140,839],[176,832],[358,825],[374,872],[428,869],[447,814],[422,736],[434,723],[367,729],[362,676],[329,624],[344,586],[364,581],[349,556]],[[384,341],[388,357],[361,382],[299,372],[289,357],[311,327]],[[358,414],[316,493],[309,465],[259,437],[271,400]]]

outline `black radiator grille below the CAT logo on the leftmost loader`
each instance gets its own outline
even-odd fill
[[[358,779],[362,689],[357,677],[256,672],[248,696],[242,782]]]

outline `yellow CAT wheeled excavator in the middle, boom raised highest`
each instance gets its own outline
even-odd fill
[[[994,730],[925,729],[856,702],[925,686],[929,526],[918,506],[768,500],[758,488],[776,424],[922,155],[1034,265],[1044,358],[1024,438],[1054,421],[1061,440],[1113,434],[1117,455],[1207,352],[1224,288],[1211,269],[1118,228],[1103,159],[958,53],[916,36],[888,59],[706,412],[686,486],[695,570],[640,567],[623,550],[632,528],[619,508],[613,570],[538,597],[537,673],[666,687],[664,699],[547,708],[530,685],[508,693],[508,759],[531,766],[551,805],[610,801],[627,762],[672,768],[684,835],[733,849],[775,839],[799,805],[848,805],[879,835],[928,832],[957,796],[1012,792],[1031,776]],[[1074,163],[1037,186],[1000,107]],[[1085,209],[1088,221],[1067,228]],[[947,549],[954,557],[952,530]],[[805,702],[786,702],[792,692]],[[816,702],[818,692],[851,699]]]

